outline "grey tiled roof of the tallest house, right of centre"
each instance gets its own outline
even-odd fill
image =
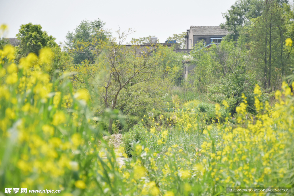
[[[193,35],[227,35],[226,29],[221,29],[220,26],[191,26]]]

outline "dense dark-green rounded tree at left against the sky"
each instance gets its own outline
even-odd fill
[[[39,51],[44,47],[57,46],[56,38],[49,36],[46,31],[42,31],[39,24],[22,24],[16,37],[21,41],[20,46],[16,46],[16,60],[31,52],[39,55]]]

